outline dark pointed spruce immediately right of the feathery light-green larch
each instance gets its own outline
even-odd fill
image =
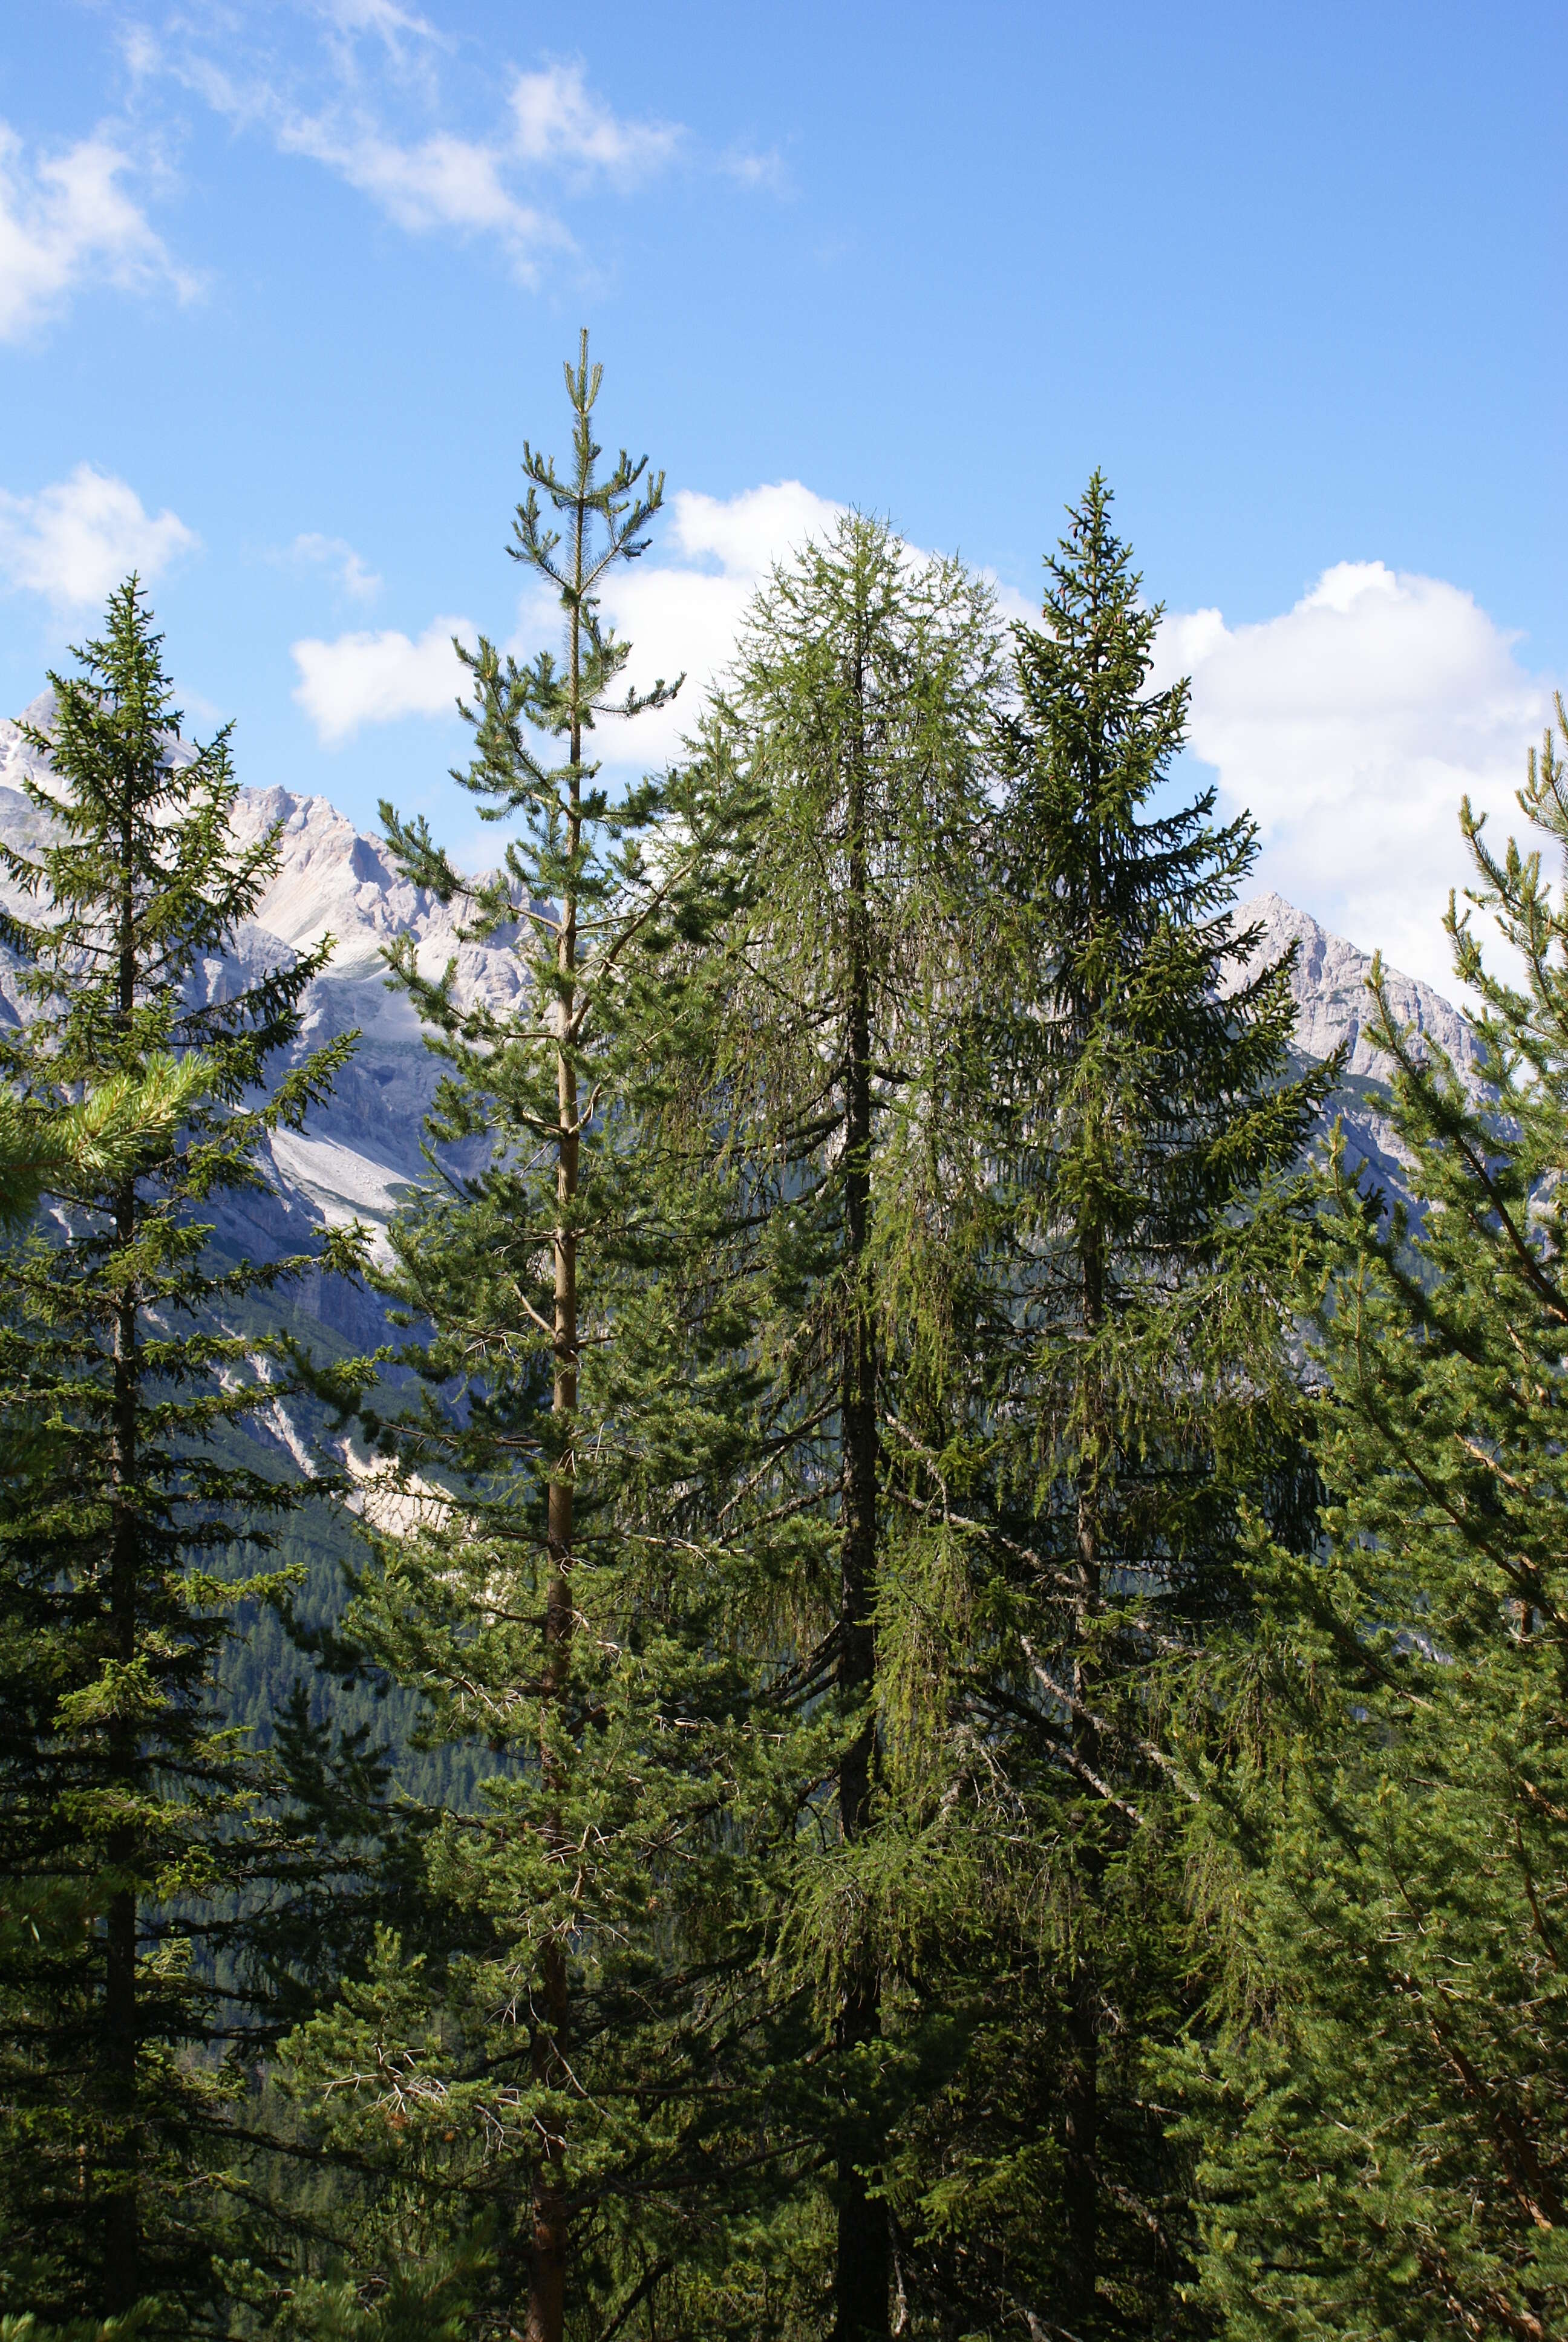
[[[1289,960],[1252,967],[1235,918],[1252,822],[1165,796],[1186,686],[1151,689],[1160,611],[1099,475],[1045,569],[968,1007],[977,1391],[930,1485],[968,1520],[928,1684],[966,1724],[945,1796],[973,1817],[982,1932],[895,2204],[933,2309],[1090,2342],[1181,2319],[1148,2068],[1191,1995],[1174,1719],[1242,1602],[1245,1508],[1289,1508],[1298,1480],[1296,1166],[1331,1068],[1291,1077]]]

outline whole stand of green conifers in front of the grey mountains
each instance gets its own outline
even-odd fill
[[[359,1237],[225,1218],[352,1038],[232,949],[277,838],[136,581],[28,735],[7,2337],[1561,2335],[1568,899],[1465,808],[1484,1080],[1378,991],[1390,1211],[1106,482],[1013,628],[846,513],[616,794],[663,480],[565,379],[499,867],[384,808],[506,977],[389,951],[377,1356],[286,1314]]]

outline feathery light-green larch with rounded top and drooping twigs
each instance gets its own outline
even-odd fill
[[[780,1726],[820,1712],[837,1735],[820,1785],[804,1775],[769,1951],[776,1988],[804,1981],[820,2021],[795,2087],[830,2173],[837,2342],[891,2326],[886,2138],[923,2073],[909,1960],[942,1923],[900,1740],[923,1731],[926,1689],[905,1628],[949,1539],[902,1482],[916,1391],[952,1351],[949,1183],[973,1101],[968,1124],[947,1115],[945,1052],[973,981],[996,679],[987,590],[851,515],[764,588],[720,710],[762,796],[710,1042],[759,1379],[715,1494],[780,1588]]]

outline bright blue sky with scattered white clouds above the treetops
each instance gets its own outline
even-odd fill
[[[1102,464],[1261,878],[1441,977],[1568,667],[1561,7],[45,0],[0,28],[0,707],[152,576],[241,778],[473,838],[579,323],[694,682],[832,504],[1038,590]],[[673,738],[649,738],[656,759]]]

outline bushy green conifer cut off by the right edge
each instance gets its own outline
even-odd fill
[[[1559,703],[1559,724],[1563,710]],[[1566,733],[1568,735],[1568,733]],[[1552,735],[1519,792],[1554,857]],[[1568,2319],[1568,899],[1463,810],[1448,904],[1486,1087],[1373,1040],[1418,1199],[1338,1166],[1315,1567],[1273,1555],[1268,1735],[1230,1780],[1216,1904],[1230,2016],[1188,2087],[1209,2127],[1205,2286],[1238,2337],[1545,2337]]]

